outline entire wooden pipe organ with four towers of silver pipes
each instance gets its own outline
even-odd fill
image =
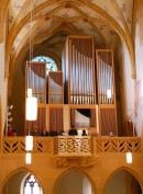
[[[94,47],[89,36],[67,36],[62,55],[62,71],[50,71],[46,78],[45,64],[29,62],[26,89],[33,89],[38,99],[38,109],[44,109],[37,118],[47,125],[67,132],[72,125],[107,136],[118,135],[114,88],[113,54],[110,49]],[[47,90],[46,90],[47,89]],[[48,101],[46,99],[48,96]],[[64,107],[68,107],[68,128],[64,128]],[[87,116],[85,113],[89,113]]]

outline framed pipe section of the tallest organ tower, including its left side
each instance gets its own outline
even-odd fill
[[[85,36],[68,36],[66,39],[65,58],[65,84],[68,88],[68,104],[95,104],[95,52],[94,39]]]

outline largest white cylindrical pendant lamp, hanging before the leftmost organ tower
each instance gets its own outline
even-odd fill
[[[37,99],[34,96],[26,98],[26,121],[35,121],[37,117]]]

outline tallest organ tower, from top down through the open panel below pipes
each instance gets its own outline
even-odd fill
[[[97,127],[94,38],[67,36],[63,52],[64,102],[69,105],[70,126]]]

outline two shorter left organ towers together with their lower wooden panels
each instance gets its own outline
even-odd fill
[[[31,125],[31,133],[34,127],[37,127],[37,135],[42,134],[44,126],[48,130],[56,129],[63,130],[63,72],[50,71],[48,79],[46,77],[45,62],[26,62],[26,83],[25,91],[32,89],[33,96],[37,98],[37,119],[25,122],[25,134],[28,134],[29,125]],[[47,81],[48,80],[48,81]],[[48,85],[48,87],[47,87]],[[46,89],[48,88],[48,104],[46,98]]]

